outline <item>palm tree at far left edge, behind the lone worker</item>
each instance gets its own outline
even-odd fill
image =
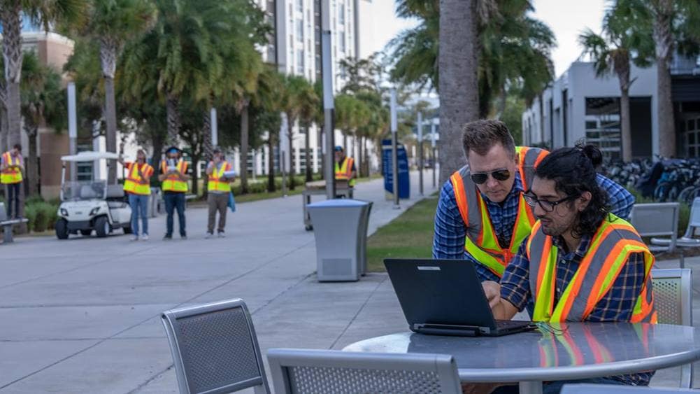
[[[2,54],[5,63],[5,109],[8,145],[20,143],[20,81],[22,79],[22,15],[39,22],[45,30],[60,21],[80,22],[86,0],[0,0],[3,27]],[[21,201],[20,201],[21,203]]]

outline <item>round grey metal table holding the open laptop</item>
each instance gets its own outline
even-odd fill
[[[542,381],[589,379],[700,360],[700,331],[680,325],[578,322],[503,337],[442,337],[402,332],[365,339],[344,351],[454,356],[463,382],[519,382],[542,393]]]

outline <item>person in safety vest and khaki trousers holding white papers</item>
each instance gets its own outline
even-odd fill
[[[216,221],[216,212],[219,212],[219,222],[216,227],[216,235],[219,238],[224,237],[224,228],[226,226],[226,208],[228,208],[228,198],[231,193],[229,182],[233,182],[232,177],[227,177],[226,173],[231,171],[231,164],[225,161],[221,150],[214,149],[214,157],[207,165],[207,204],[209,205],[209,224],[207,226],[207,236],[214,236],[214,222]]]

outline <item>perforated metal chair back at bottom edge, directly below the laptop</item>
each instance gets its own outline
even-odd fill
[[[278,394],[462,393],[451,355],[271,349]]]

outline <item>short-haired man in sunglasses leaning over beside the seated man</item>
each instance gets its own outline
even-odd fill
[[[498,282],[535,223],[523,193],[548,152],[516,147],[505,123],[495,120],[464,125],[463,147],[467,165],[440,192],[433,258],[468,259],[482,281]],[[608,193],[611,212],[629,217],[634,204],[629,191],[602,175],[596,182]]]

